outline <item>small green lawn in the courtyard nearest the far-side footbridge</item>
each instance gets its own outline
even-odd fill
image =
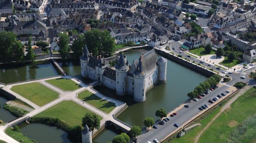
[[[71,79],[50,79],[47,80],[49,84],[52,84],[64,91],[73,91],[79,89],[81,86]]]

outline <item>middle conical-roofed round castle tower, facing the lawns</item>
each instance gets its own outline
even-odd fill
[[[127,71],[129,70],[129,66],[127,65],[128,62],[126,62],[126,56],[124,56],[122,53],[119,57],[119,60],[115,66],[116,68],[116,95],[126,95],[126,76]]]

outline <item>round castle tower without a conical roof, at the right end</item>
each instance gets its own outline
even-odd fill
[[[158,64],[158,83],[166,83],[166,69],[167,69],[167,59],[161,57],[157,59]]]

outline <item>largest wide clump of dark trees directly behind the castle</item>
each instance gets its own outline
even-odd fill
[[[84,34],[85,44],[93,56],[110,56],[115,51],[115,39],[110,33],[92,29]]]

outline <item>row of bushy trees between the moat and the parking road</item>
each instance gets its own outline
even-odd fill
[[[216,86],[221,81],[221,76],[215,74],[210,76],[206,81],[200,83],[195,89],[188,93],[189,98],[196,98],[198,95],[203,93],[205,90],[209,89],[212,86]]]

